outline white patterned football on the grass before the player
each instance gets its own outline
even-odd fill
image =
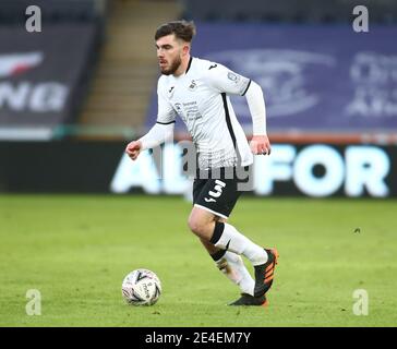
[[[153,305],[161,294],[160,279],[148,269],[135,269],[124,277],[121,294],[129,304]]]

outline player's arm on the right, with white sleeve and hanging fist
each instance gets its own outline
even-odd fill
[[[250,143],[253,154],[270,154],[270,142],[266,133],[266,108],[261,86],[226,67],[214,63],[206,72],[208,84],[219,93],[245,96],[253,124]]]

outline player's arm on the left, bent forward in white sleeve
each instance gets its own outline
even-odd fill
[[[173,127],[176,111],[168,100],[163,96],[161,88],[157,88],[158,116],[156,124],[140,140],[130,142],[125,147],[125,153],[135,160],[140,153],[171,141],[173,137]]]

